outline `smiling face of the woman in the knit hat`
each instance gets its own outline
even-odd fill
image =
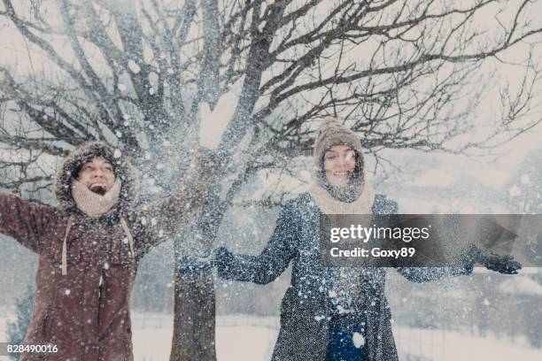
[[[334,187],[348,184],[356,165],[356,152],[347,145],[334,145],[326,150],[323,159],[329,184]]]

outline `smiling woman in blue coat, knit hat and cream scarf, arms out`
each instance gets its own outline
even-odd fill
[[[292,264],[281,305],[273,361],[398,360],[391,311],[384,295],[386,268],[326,267],[320,257],[320,215],[392,214],[397,204],[376,195],[364,180],[360,140],[335,119],[321,126],[314,144],[314,184],[284,205],[258,256],[214,252],[227,280],[267,284]],[[205,267],[192,262],[186,270]],[[192,268],[192,269],[194,269]],[[472,272],[467,268],[397,268],[423,282]]]

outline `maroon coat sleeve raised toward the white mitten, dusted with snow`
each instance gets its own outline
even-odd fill
[[[136,228],[142,230],[135,241],[137,254],[142,255],[151,247],[172,239],[180,228],[186,227],[202,211],[215,165],[215,152],[200,148],[171,196],[145,204],[136,211]]]

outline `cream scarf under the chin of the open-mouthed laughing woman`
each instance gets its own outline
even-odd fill
[[[112,188],[104,196],[100,196],[80,181],[72,180],[72,196],[74,197],[77,208],[90,217],[98,217],[111,211],[119,202],[120,186],[121,181],[117,177]]]

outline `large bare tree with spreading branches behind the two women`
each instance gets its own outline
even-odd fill
[[[244,77],[205,211],[175,240],[177,256],[187,244],[212,247],[252,176],[308,154],[318,119],[343,119],[384,168],[384,149],[488,150],[539,121],[525,117],[542,33],[527,0],[3,3],[30,67],[0,68],[0,142],[28,154],[0,159],[21,174],[3,181],[11,191],[50,184],[50,170],[25,173],[43,155],[102,140],[136,159],[148,189],[166,192],[197,144],[198,105]],[[507,60],[513,50],[522,57]],[[503,117],[474,136],[481,69],[510,61],[523,81],[503,88]],[[215,358],[213,292],[211,273],[175,280],[171,360]]]

